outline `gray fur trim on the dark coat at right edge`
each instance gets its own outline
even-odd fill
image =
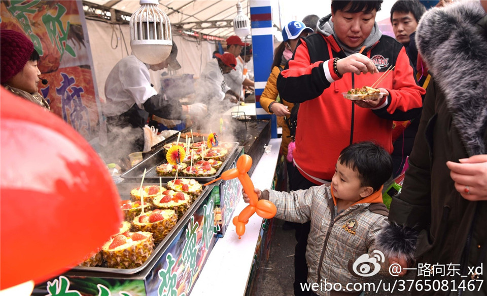
[[[433,8],[416,30],[418,49],[443,91],[469,156],[486,154],[486,14],[478,1]]]

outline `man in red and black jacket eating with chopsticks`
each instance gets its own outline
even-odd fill
[[[293,154],[296,170],[290,179],[294,188],[330,183],[340,151],[352,143],[374,141],[391,153],[392,121],[421,112],[425,90],[416,84],[404,47],[382,35],[375,23],[381,4],[333,0],[332,14],[318,21],[317,34],[300,40],[277,78],[281,98],[301,103]],[[389,68],[392,71],[375,87],[384,94],[378,100],[343,97],[352,88],[372,86]],[[295,294],[300,294],[299,283],[306,282],[306,231],[309,225],[296,231]]]

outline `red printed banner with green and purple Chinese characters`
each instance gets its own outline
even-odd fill
[[[0,29],[26,34],[41,56],[39,84],[51,110],[88,141],[98,136],[99,99],[81,1],[2,1]]]

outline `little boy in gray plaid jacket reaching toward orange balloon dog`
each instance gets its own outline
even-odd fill
[[[361,142],[341,151],[331,185],[289,193],[255,189],[259,199],[275,204],[275,217],[311,221],[307,285],[301,289],[318,295],[359,295],[363,287],[354,284],[380,271],[385,258],[376,250],[375,238],[387,222],[381,190],[391,175],[389,153]],[[245,193],[243,199],[249,202]]]

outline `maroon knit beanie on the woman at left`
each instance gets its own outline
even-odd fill
[[[33,51],[34,45],[25,34],[14,30],[0,30],[0,83],[7,83],[22,71]]]

